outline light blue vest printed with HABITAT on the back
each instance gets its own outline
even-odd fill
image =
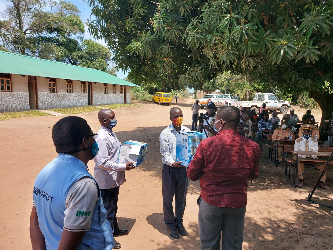
[[[87,171],[86,164],[66,154],[59,154],[36,177],[33,197],[39,227],[45,237],[48,250],[58,248],[64,227],[66,196],[72,185],[82,177],[95,180]],[[98,187],[97,183],[96,185]],[[90,230],[86,232],[78,250],[111,250],[113,248],[111,226],[106,217],[99,187],[98,192],[99,199],[93,211],[77,211],[73,215],[92,217]]]

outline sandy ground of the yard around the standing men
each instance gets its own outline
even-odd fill
[[[179,100],[183,124],[191,127],[190,106],[193,100]],[[116,132],[120,141],[148,143],[146,162],[126,172],[127,182],[119,195],[119,225],[130,230],[117,237],[122,249],[199,249],[198,206],[199,182],[191,181],[187,194],[184,226],[187,236],[169,237],[163,221],[162,164],[159,135],[169,125],[171,107],[146,103],[142,107],[119,108]],[[300,117],[304,109],[295,108]],[[314,114],[316,120],[320,114]],[[97,132],[97,111],[82,113]],[[280,119],[282,115],[279,114]],[[33,183],[38,172],[56,157],[51,138],[52,126],[61,117],[35,117],[0,121],[0,246],[2,249],[31,249],[29,216]],[[93,161],[89,162],[93,174]],[[318,190],[314,198],[333,205],[333,169],[327,174],[329,191]],[[250,249],[333,249],[333,211],[309,203],[308,193],[315,184],[317,170],[305,176],[303,189],[295,189],[284,177],[284,164],[273,166],[263,147],[259,178],[248,187],[243,250]]]

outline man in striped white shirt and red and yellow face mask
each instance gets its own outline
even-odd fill
[[[160,146],[162,155],[162,196],[163,214],[169,235],[178,239],[180,235],[186,235],[183,226],[183,214],[186,205],[186,193],[188,178],[186,167],[181,165],[181,161],[176,162],[176,134],[177,132],[190,132],[191,130],[181,126],[183,113],[180,108],[170,109],[171,124],[160,134]],[[173,212],[172,201],[175,200],[175,212]],[[175,214],[175,216],[174,216]],[[178,232],[179,234],[178,234]]]

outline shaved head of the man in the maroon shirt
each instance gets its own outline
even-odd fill
[[[232,106],[221,108],[216,115],[216,120],[219,119],[225,122],[223,129],[237,130],[237,126],[240,120],[240,113],[238,108]]]

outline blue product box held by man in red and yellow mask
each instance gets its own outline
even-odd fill
[[[191,131],[178,132],[176,138],[176,161],[182,161],[181,165],[188,167],[199,143],[207,137],[203,133]]]

